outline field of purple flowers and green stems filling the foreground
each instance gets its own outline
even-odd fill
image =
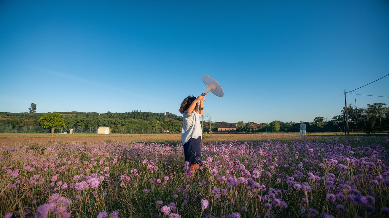
[[[0,148],[0,216],[388,217],[389,138]]]

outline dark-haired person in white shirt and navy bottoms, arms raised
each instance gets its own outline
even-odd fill
[[[181,142],[184,145],[185,161],[189,162],[189,171],[193,175],[202,164],[201,161],[201,137],[203,136],[200,117],[203,114],[204,96],[187,96],[182,101],[179,112],[182,113]]]

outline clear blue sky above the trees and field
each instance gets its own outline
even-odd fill
[[[3,0],[0,111],[180,115],[209,75],[224,89],[206,96],[216,121],[331,119],[344,89],[389,73],[388,11],[386,0]],[[355,93],[389,96],[389,76]]]

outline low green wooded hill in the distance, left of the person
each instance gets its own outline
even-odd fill
[[[96,113],[96,112],[55,112],[65,119],[67,128],[108,126],[112,133],[130,132],[137,130],[148,133],[159,133],[169,130],[179,133],[182,126],[182,117],[173,113],[152,113],[134,110],[127,113]],[[39,118],[46,113],[9,113],[0,112],[0,124],[11,124],[11,128],[18,126],[39,126]],[[126,130],[126,131],[124,131]]]

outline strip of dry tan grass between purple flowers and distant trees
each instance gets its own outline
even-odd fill
[[[350,136],[341,133],[308,133],[300,136],[298,133],[250,133],[250,134],[203,134],[203,142],[216,141],[313,141],[340,138],[350,140],[363,133],[350,133]],[[375,134],[375,136],[387,136],[388,134]],[[0,133],[0,145],[15,145],[16,143],[53,143],[53,142],[91,142],[91,141],[131,141],[131,142],[155,142],[175,144],[181,142],[180,134],[23,134],[23,133]]]

